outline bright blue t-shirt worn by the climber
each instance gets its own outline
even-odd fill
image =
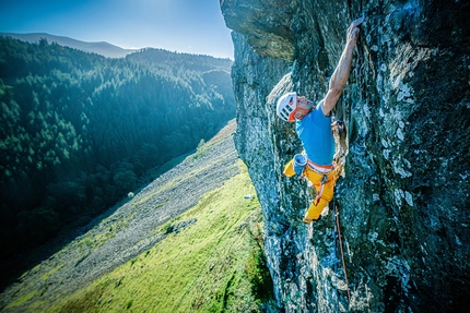
[[[321,111],[322,100],[317,109],[312,110],[295,123],[297,135],[309,160],[329,166],[333,162],[334,139],[331,131],[331,118]]]

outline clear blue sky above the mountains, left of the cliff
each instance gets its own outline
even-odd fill
[[[0,32],[233,59],[219,0],[0,0]]]

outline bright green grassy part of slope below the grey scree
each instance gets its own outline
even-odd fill
[[[246,168],[174,221],[168,234],[47,312],[260,312],[272,290],[263,266],[262,215]]]

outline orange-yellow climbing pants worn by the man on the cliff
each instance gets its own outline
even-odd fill
[[[295,174],[293,165],[294,165],[294,159],[290,160],[285,165],[284,174],[286,177],[293,177]],[[324,174],[314,170],[309,165],[307,165],[305,167],[304,174],[315,185],[317,195],[321,192],[320,197],[318,198],[317,196],[312,202],[310,206],[305,213],[306,219],[315,220],[320,217],[320,214],[324,210],[324,208],[333,198],[334,183],[336,183],[334,168],[330,172]],[[321,190],[321,180],[324,179],[324,176],[327,176],[327,178],[325,179],[326,182],[324,183],[324,186]]]

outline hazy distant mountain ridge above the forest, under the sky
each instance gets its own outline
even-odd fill
[[[111,44],[99,41],[99,43],[86,43],[72,39],[63,36],[56,36],[46,33],[33,33],[33,34],[14,34],[14,33],[0,33],[0,36],[12,37],[31,44],[39,43],[40,38],[46,38],[49,44],[57,43],[61,46],[79,49],[85,52],[93,52],[108,58],[124,58],[129,53],[136,52],[139,49],[122,49]]]

